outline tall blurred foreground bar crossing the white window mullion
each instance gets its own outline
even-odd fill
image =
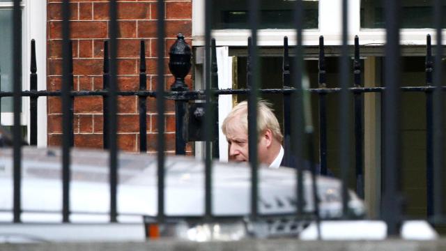
[[[348,3],[342,0],[342,46],[341,46],[341,91],[339,93],[339,166],[341,167],[342,180],[342,208],[343,217],[348,217],[348,170],[350,169],[350,158],[348,156],[348,142],[350,142],[350,133],[348,131],[349,123],[349,91],[348,79]]]

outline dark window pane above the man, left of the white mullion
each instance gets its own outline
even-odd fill
[[[318,0],[303,1],[304,28],[318,29]],[[259,1],[260,29],[293,29],[294,0]],[[213,29],[249,29],[247,0],[213,2]]]

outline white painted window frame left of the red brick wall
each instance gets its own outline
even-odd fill
[[[11,8],[13,2],[0,3],[0,8]],[[29,73],[31,66],[31,39],[36,40],[36,63],[38,74],[38,90],[47,89],[46,59],[47,59],[47,1],[22,1],[22,90],[29,90]],[[20,121],[29,128],[29,98],[22,99],[22,114]],[[2,112],[1,123],[12,126],[14,114]],[[29,141],[29,133],[28,133]],[[47,99],[38,98],[38,146],[47,145]]]

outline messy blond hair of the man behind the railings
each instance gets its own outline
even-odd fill
[[[279,121],[275,114],[270,108],[271,104],[259,100],[257,102],[257,133],[261,134],[265,132],[266,129],[270,129],[272,132],[272,137],[277,139],[277,141],[282,142],[284,136],[280,130]],[[223,134],[226,135],[226,130],[230,127],[241,126],[245,132],[248,132],[248,102],[243,101],[238,103],[233,107],[232,111],[226,116],[222,124]],[[230,123],[233,119],[238,119],[238,123]]]

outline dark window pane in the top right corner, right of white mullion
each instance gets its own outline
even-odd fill
[[[443,0],[443,13],[446,0]],[[384,28],[384,1],[361,0],[361,27]],[[443,28],[446,15],[443,15]],[[433,28],[433,0],[401,1],[401,28]]]

